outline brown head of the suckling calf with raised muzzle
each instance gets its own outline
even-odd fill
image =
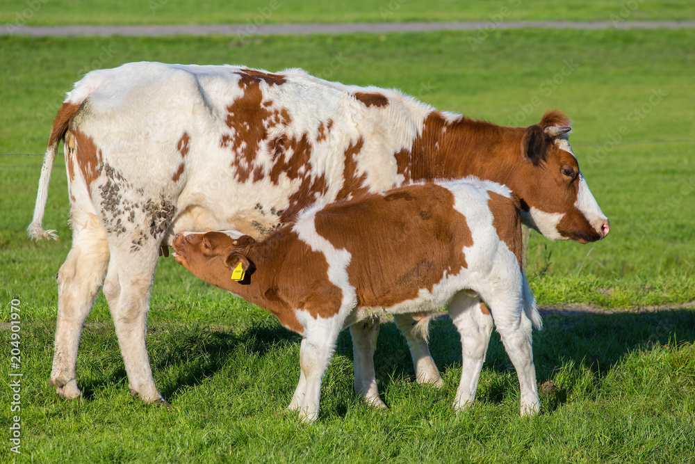
[[[248,247],[254,243],[248,235],[236,231],[181,232],[174,237],[174,259],[197,278],[220,288],[234,291],[231,273],[241,264],[247,282],[254,271],[246,257]]]

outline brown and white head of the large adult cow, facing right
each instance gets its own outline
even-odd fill
[[[522,220],[551,240],[597,241],[608,234],[608,218],[591,195],[569,145],[569,119],[549,111],[527,127],[523,161],[509,178],[521,198]]]

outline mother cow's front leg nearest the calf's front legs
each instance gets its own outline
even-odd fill
[[[369,406],[386,408],[379,398],[377,378],[374,371],[374,351],[379,335],[379,318],[372,317],[350,326],[352,355],[354,358],[354,392],[363,397]]]

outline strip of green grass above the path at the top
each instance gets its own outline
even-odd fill
[[[689,0],[0,0],[0,24],[270,24],[519,20],[692,20]]]

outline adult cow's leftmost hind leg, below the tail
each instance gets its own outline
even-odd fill
[[[77,350],[85,319],[104,282],[108,242],[95,214],[72,209],[72,248],[58,271],[58,317],[51,385],[61,397],[81,395],[76,381]]]

